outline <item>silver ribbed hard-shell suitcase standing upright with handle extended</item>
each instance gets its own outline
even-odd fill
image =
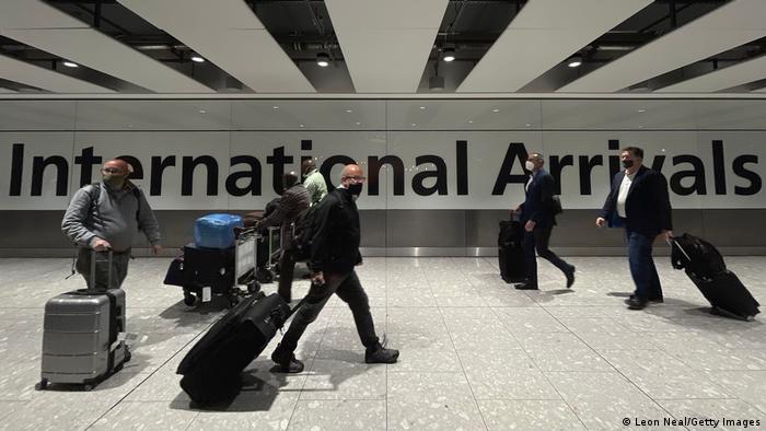
[[[112,286],[112,252],[108,253]],[[103,263],[103,261],[102,261]],[[96,253],[91,258],[91,284],[95,286]],[[81,384],[90,391],[123,369],[130,360],[120,333],[125,333],[125,291],[80,289],[62,293],[45,304],[40,382]]]

